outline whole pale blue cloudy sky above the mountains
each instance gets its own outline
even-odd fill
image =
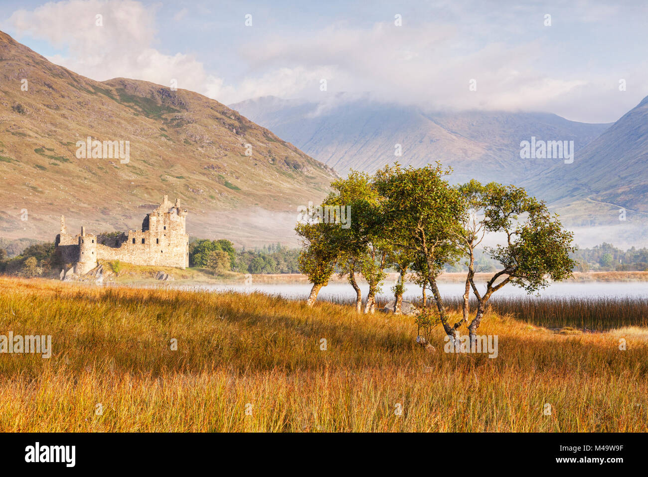
[[[76,73],[176,80],[224,104],[265,95],[330,101],[345,92],[435,110],[543,111],[609,123],[648,95],[645,1],[0,6],[0,30]]]

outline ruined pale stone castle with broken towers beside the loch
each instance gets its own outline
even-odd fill
[[[189,267],[189,235],[185,230],[187,210],[164,201],[146,215],[142,230],[128,230],[110,236],[95,236],[81,227],[81,233],[67,233],[65,217],[56,236],[56,252],[63,263],[71,263],[75,275],[84,275],[98,266],[98,260],[119,260],[133,265]],[[102,243],[99,243],[102,242]]]

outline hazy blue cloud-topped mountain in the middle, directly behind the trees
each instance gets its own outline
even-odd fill
[[[435,112],[345,94],[322,103],[261,97],[230,107],[342,175],[373,172],[395,160],[417,167],[440,160],[452,166],[454,182],[519,182],[552,164],[521,159],[521,141],[574,141],[579,151],[609,126],[546,113]],[[395,156],[396,144],[402,156]]]

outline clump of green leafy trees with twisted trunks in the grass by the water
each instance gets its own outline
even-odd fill
[[[562,228],[544,202],[529,197],[522,188],[495,182],[482,185],[471,180],[451,187],[445,178],[449,173],[438,162],[420,168],[396,163],[373,176],[352,171],[348,178],[336,180],[334,192],[321,206],[351,204],[353,221],[348,228],[322,223],[313,220],[314,211],[308,210],[307,223],[295,227],[303,245],[300,270],[314,285],[326,285],[336,265],[340,273],[359,270],[369,283],[367,312],[384,279],[384,268],[394,267],[403,275],[410,269],[424,293],[430,287],[439,320],[452,336],[467,322],[471,289],[479,305],[469,326],[474,336],[485,303],[507,283],[534,293],[550,280],[571,275],[576,264],[570,258],[575,251],[573,234]],[[504,236],[505,241],[485,247],[486,256],[479,256],[477,246],[486,234],[493,239]],[[436,279],[462,259],[468,270],[463,320],[450,326]],[[500,265],[499,271],[492,262]],[[495,272],[483,295],[474,283],[474,273],[479,271]],[[353,284],[351,276],[349,282]],[[402,289],[402,285],[393,287],[396,295]],[[429,326],[426,319],[424,314],[419,325]]]

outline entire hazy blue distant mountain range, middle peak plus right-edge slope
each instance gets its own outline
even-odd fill
[[[440,160],[452,182],[477,178],[524,186],[547,201],[576,243],[648,246],[648,97],[616,123],[588,124],[529,112],[430,112],[338,95],[321,103],[262,97],[231,108],[272,128],[341,174],[395,160]],[[522,159],[522,141],[574,141],[572,164]],[[402,156],[394,156],[394,145]]]

